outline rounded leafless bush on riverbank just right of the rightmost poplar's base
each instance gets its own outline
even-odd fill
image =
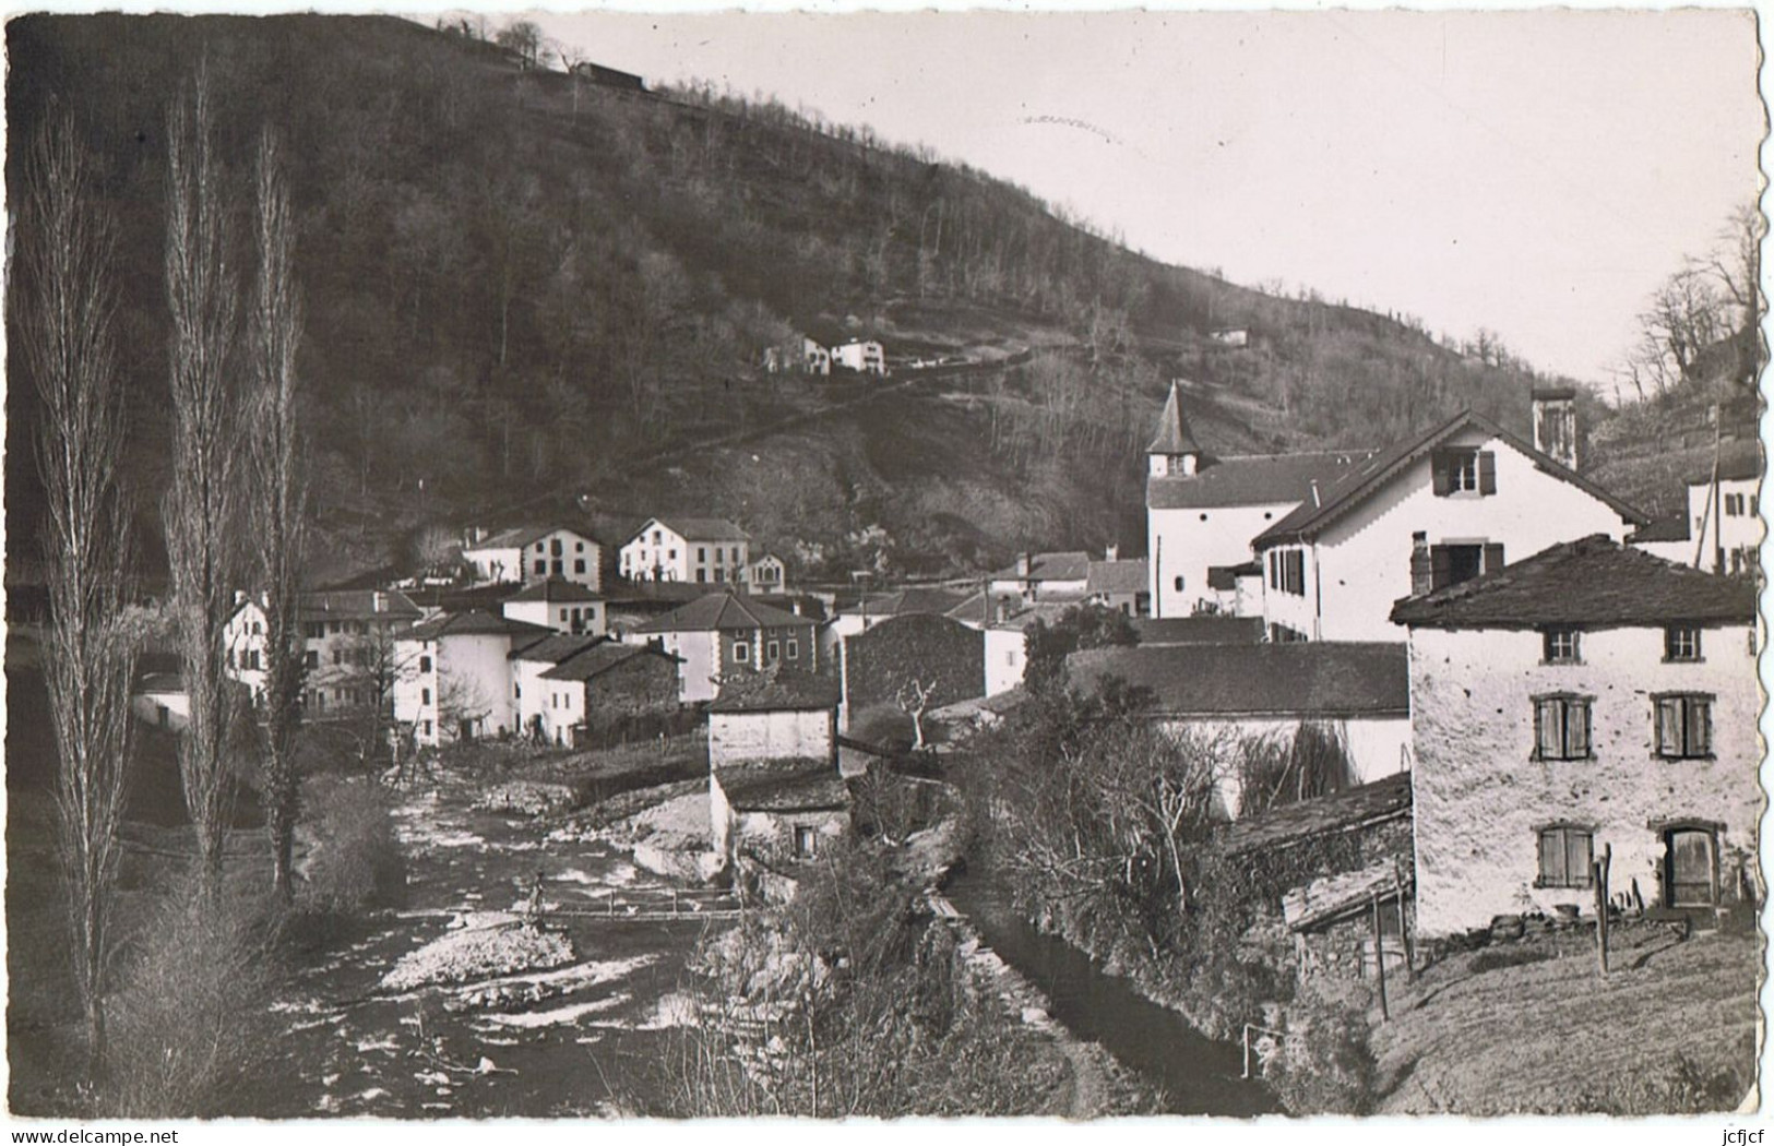
[[[321,775],[305,795],[314,855],[302,889],[303,908],[351,915],[397,903],[406,887],[406,862],[381,786],[364,777]]]

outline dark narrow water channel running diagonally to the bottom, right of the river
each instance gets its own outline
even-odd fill
[[[990,878],[960,873],[944,889],[981,938],[1034,983],[1052,1016],[1082,1040],[1100,1043],[1164,1096],[1173,1114],[1249,1118],[1276,1111],[1260,1082],[1240,1079],[1240,1048],[1201,1034],[1176,1011],[1151,1002],[1087,954],[1043,935]]]

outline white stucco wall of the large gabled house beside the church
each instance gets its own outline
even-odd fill
[[[1481,431],[1448,445],[1492,451],[1497,491],[1435,497],[1432,459],[1417,459],[1318,534],[1306,552],[1306,596],[1265,589],[1265,623],[1279,621],[1313,640],[1401,640],[1403,630],[1389,614],[1396,600],[1410,596],[1416,532],[1428,534],[1432,546],[1503,543],[1508,564],[1590,534],[1623,541],[1632,529],[1605,502]]]

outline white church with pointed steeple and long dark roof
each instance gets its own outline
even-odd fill
[[[1240,594],[1251,539],[1293,513],[1313,491],[1334,484],[1368,451],[1274,456],[1210,456],[1183,413],[1173,381],[1146,447],[1146,561],[1151,616],[1261,610],[1261,593]],[[1254,571],[1242,584],[1254,585]]]

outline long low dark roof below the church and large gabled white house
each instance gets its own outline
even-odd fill
[[[1403,644],[1302,640],[1086,649],[1066,658],[1084,688],[1118,676],[1150,688],[1155,715],[1403,717],[1410,672]]]

